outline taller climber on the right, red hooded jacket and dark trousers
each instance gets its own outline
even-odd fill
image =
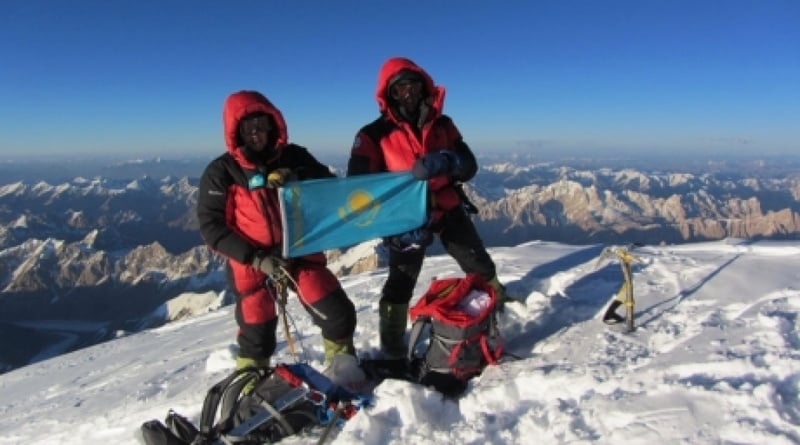
[[[475,176],[478,164],[453,120],[442,111],[444,93],[444,87],[435,85],[413,61],[386,60],[375,92],[380,116],[356,134],[347,166],[347,176],[410,170],[417,179],[428,181],[430,220],[384,239],[390,247],[389,276],[378,314],[381,349],[390,359],[407,352],[409,301],[435,236],[464,272],[482,276],[501,303],[511,301],[469,216],[477,209],[462,184]]]

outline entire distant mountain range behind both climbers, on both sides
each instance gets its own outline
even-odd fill
[[[191,313],[183,303],[164,309],[187,292],[223,295],[223,261],[202,245],[194,213],[205,162],[119,163],[51,182],[29,173],[0,185],[0,372]],[[465,191],[490,247],[800,237],[796,160],[481,164]],[[328,252],[331,268],[383,265],[376,242],[356,252]]]

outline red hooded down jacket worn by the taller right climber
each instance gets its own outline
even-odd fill
[[[404,70],[419,74],[427,92],[428,97],[424,100],[427,118],[420,129],[401,119],[389,99],[389,80]],[[428,180],[431,208],[436,215],[437,210],[446,211],[461,204],[455,182],[472,179],[478,167],[458,128],[450,117],[442,113],[444,96],[444,87],[434,85],[428,73],[411,60],[402,57],[387,60],[381,66],[375,91],[381,117],[361,128],[356,135],[347,175],[410,170],[414,162],[426,154],[450,150],[460,158],[461,174],[455,178],[441,175]]]

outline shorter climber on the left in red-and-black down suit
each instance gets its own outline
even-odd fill
[[[203,172],[197,218],[205,242],[227,258],[239,325],[237,368],[269,366],[275,350],[276,293],[267,277],[289,271],[297,293],[322,330],[325,361],[355,355],[356,314],[322,253],[281,258],[276,188],[287,180],[333,177],[307,149],[288,143],[281,112],[262,94],[239,91],[222,112],[227,152]]]

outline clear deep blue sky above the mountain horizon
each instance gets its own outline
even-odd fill
[[[800,152],[797,0],[11,0],[0,157],[211,156],[239,89],[347,153],[398,55],[476,152]]]

